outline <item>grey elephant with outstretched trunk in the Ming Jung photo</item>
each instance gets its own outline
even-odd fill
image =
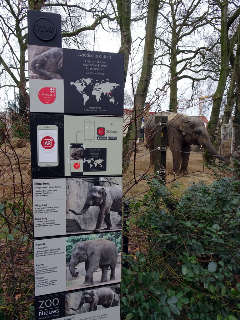
[[[72,209],[69,209],[69,211],[76,215],[81,215],[84,214],[91,205],[99,206],[100,212],[98,214],[97,225],[93,231],[101,231],[103,220],[106,222],[107,230],[111,230],[113,226],[109,212],[114,211],[122,216],[122,197],[123,191],[121,186],[93,186],[87,193],[87,198],[83,209],[80,212],[76,212]]]

